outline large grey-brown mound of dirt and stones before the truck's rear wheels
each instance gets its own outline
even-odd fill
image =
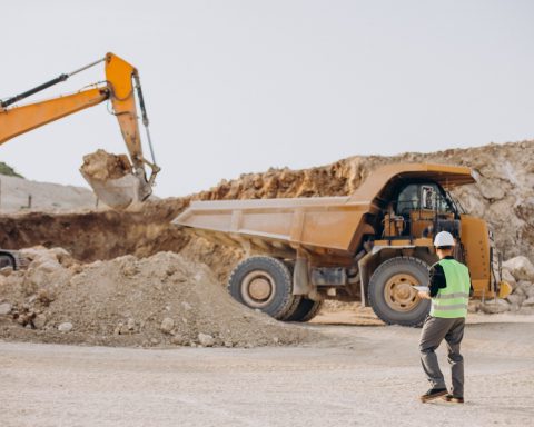
[[[81,265],[65,249],[22,250],[0,275],[0,337],[106,346],[291,345],[314,332],[236,302],[204,265],[160,252]]]

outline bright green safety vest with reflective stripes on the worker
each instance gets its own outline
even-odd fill
[[[437,264],[443,267],[447,286],[432,298],[431,316],[447,319],[466,317],[471,290],[469,270],[455,259],[442,259]]]

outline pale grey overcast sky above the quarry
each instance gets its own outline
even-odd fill
[[[160,197],[269,167],[534,139],[527,0],[17,0],[1,14],[2,99],[108,51],[137,67]],[[100,66],[26,102],[102,79]],[[87,187],[78,168],[98,148],[126,152],[106,103],[6,142],[0,160]]]

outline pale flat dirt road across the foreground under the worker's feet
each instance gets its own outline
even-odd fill
[[[327,339],[256,349],[0,342],[0,425],[527,426],[533,326],[472,318],[464,406],[417,401],[427,385],[411,328],[310,325]]]

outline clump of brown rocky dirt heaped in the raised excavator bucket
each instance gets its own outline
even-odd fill
[[[105,150],[97,150],[83,156],[80,172],[99,181],[119,179],[131,173],[130,160],[126,155],[111,155]]]

